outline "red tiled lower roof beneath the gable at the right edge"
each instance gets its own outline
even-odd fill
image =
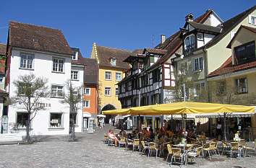
[[[232,66],[232,56],[230,56],[222,65],[220,68],[216,69],[215,71],[208,74],[208,77],[215,77],[220,76],[223,74],[229,74],[236,71],[244,71],[249,68],[256,68],[256,61],[252,61],[250,63],[243,63],[241,65]]]

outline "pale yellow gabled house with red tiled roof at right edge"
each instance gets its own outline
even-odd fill
[[[256,25],[256,21],[254,24]],[[212,87],[212,102],[256,105],[255,41],[256,27],[239,27],[227,45],[227,48],[231,49],[231,56],[220,68],[208,75]],[[248,128],[248,132],[252,133],[247,138],[256,138],[256,115],[251,117],[244,114],[242,117],[235,118],[234,125],[241,123],[243,128]]]

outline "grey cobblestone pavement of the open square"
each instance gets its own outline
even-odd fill
[[[169,167],[162,158],[142,156],[139,152],[125,151],[103,143],[103,133],[108,126],[96,133],[77,133],[77,142],[68,142],[67,138],[44,138],[32,145],[0,146],[0,168],[16,167]],[[116,131],[118,132],[118,131]],[[196,164],[187,167],[231,168],[234,166],[256,167],[256,157],[243,159],[221,157],[210,162],[197,159]],[[178,167],[178,166],[171,166]]]

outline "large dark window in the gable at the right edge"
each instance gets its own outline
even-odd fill
[[[249,63],[256,60],[255,41],[234,48],[236,64]]]

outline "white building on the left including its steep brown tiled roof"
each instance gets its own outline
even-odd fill
[[[71,79],[73,86],[82,86],[84,67],[72,63],[77,54],[60,30],[18,22],[9,23],[7,44],[7,92],[15,97],[13,81],[24,74],[48,79],[51,97],[43,98],[45,110],[40,110],[31,123],[31,135],[69,134],[69,105],[61,102]],[[77,113],[75,131],[82,131],[82,102]],[[9,133],[25,134],[27,112],[20,105],[9,105]]]

